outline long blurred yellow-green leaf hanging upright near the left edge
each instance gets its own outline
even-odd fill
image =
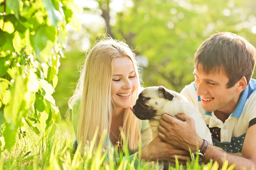
[[[12,97],[9,104],[4,107],[3,113],[6,122],[11,125],[11,130],[14,130],[17,120],[20,120],[20,118],[17,116],[20,111],[20,106],[23,101],[23,94],[25,92],[24,78],[18,75],[15,82],[12,84],[12,86],[10,86],[9,89],[12,92]]]

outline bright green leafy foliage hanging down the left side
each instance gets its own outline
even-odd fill
[[[73,0],[0,0],[0,126],[8,150],[26,127],[40,136],[60,122],[52,94],[76,9]]]

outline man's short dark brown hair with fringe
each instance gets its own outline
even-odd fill
[[[223,32],[207,38],[195,53],[194,66],[209,74],[224,71],[229,78],[227,88],[233,87],[243,76],[249,84],[255,68],[256,49],[243,37]]]

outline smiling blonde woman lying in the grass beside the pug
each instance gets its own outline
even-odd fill
[[[76,91],[69,100],[69,106],[73,108],[76,139],[81,142],[81,153],[86,141],[93,139],[97,127],[96,146],[104,129],[108,130],[104,146],[108,142],[111,146],[119,146],[122,142],[119,127],[122,127],[131,154],[130,160],[137,154],[140,137],[142,147],[145,147],[141,159],[145,161],[150,158],[150,161],[175,160],[174,154],[187,154],[159,138],[151,142],[151,129],[147,121],[140,121],[129,109],[136,102],[139,88],[137,62],[125,42],[102,40],[90,50]],[[141,162],[136,159],[134,167],[138,163]]]

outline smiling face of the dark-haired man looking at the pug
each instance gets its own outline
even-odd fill
[[[212,70],[206,74],[201,67],[195,69],[195,87],[197,95],[201,97],[201,105],[205,111],[221,111],[232,113],[239,101],[240,93],[236,89],[237,82],[233,87],[227,88],[229,78],[223,70]]]

